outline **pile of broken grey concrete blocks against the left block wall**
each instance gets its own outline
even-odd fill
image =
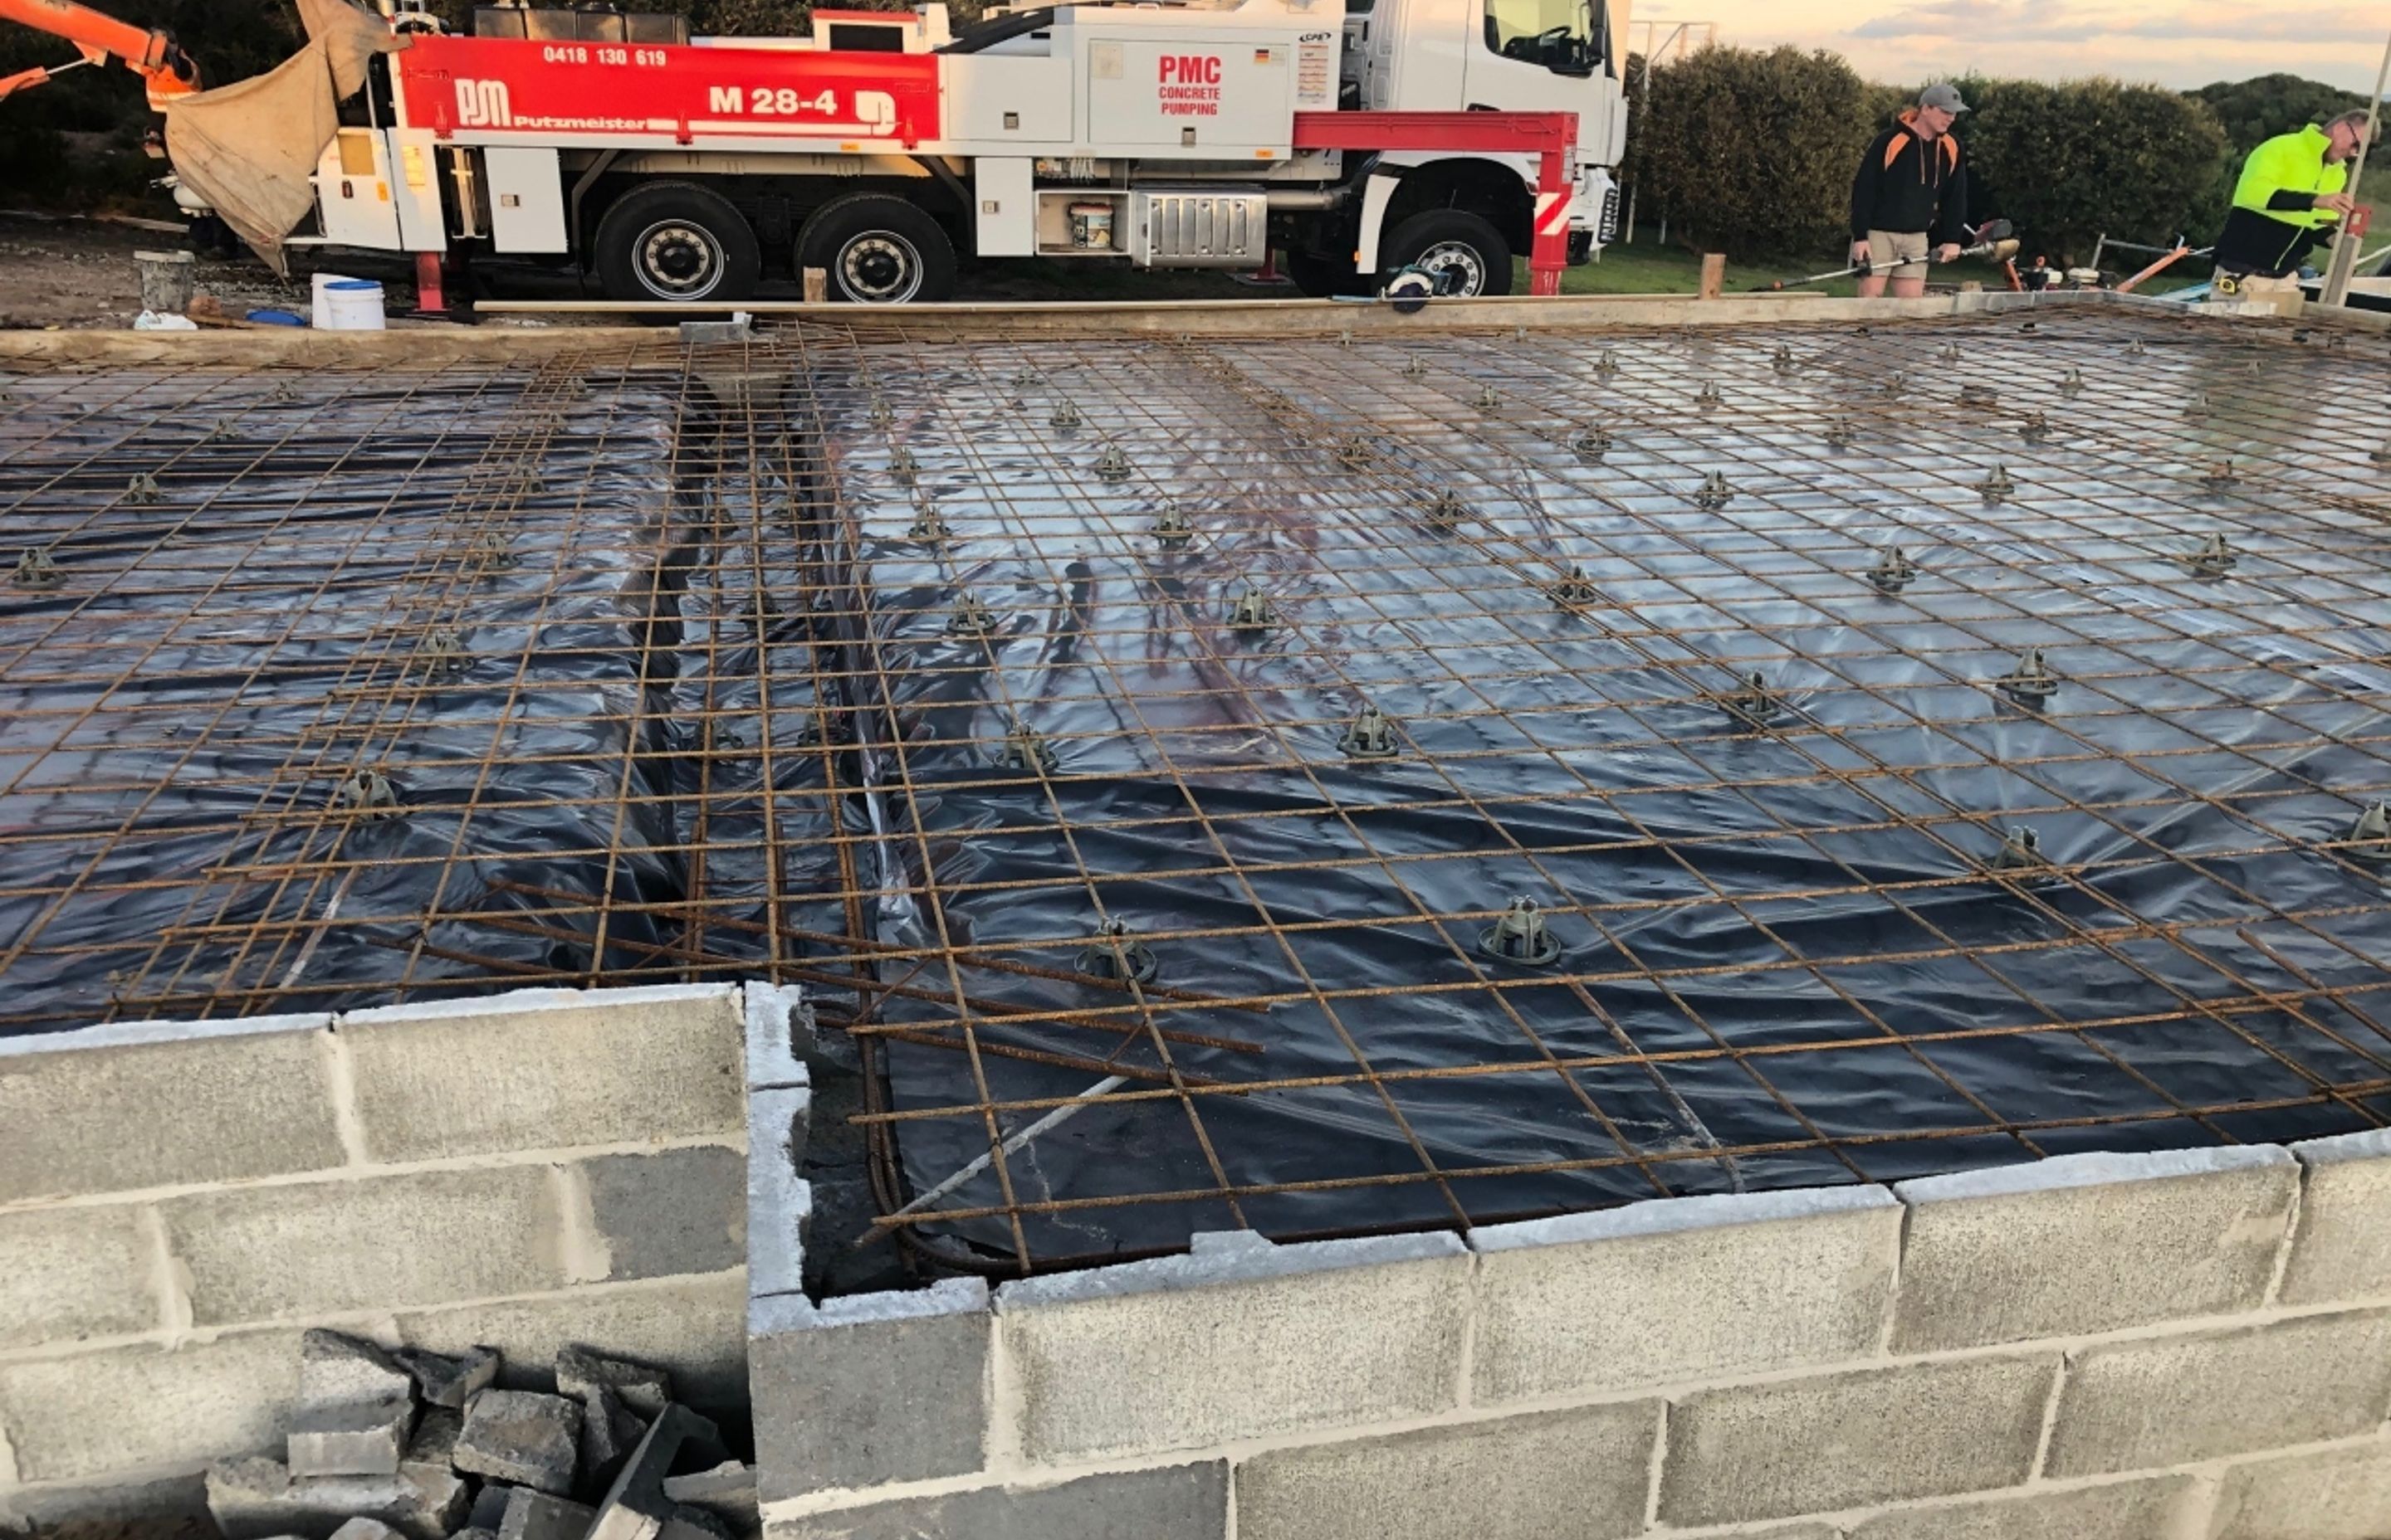
[[[586,1346],[562,1394],[497,1389],[493,1349],[306,1332],[287,1461],[208,1468],[225,1540],[753,1540],[756,1473],[665,1370]],[[588,1507],[600,1499],[598,1507]]]

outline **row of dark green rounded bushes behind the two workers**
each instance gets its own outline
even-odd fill
[[[1631,60],[1626,182],[1638,220],[1767,258],[1839,249],[1863,146],[1915,100],[1836,53],[1705,48],[1650,74]],[[2262,139],[2365,105],[2355,91],[2267,74],[2166,91],[2114,79],[1956,81],[1970,158],[1970,222],[2018,225],[2025,253],[2085,263],[2102,232],[2140,244],[2224,225],[2243,155]]]

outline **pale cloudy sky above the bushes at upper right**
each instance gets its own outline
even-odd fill
[[[2391,38],[2379,0],[1631,0],[1628,22],[1638,48],[1647,22],[1717,22],[1722,43],[1832,48],[1879,81],[1973,69],[2178,91],[2274,72],[2365,91]]]

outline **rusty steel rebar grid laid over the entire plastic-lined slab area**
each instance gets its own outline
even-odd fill
[[[875,337],[17,380],[0,1031],[801,980],[995,1270],[2386,1122],[2381,340]]]

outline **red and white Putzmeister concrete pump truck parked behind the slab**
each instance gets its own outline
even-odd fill
[[[385,0],[385,7],[392,0]],[[1623,0],[1038,5],[949,29],[813,12],[803,38],[679,17],[414,10],[292,239],[579,263],[614,299],[765,275],[944,299],[961,256],[1262,268],[1305,292],[1540,287],[1616,208]]]

